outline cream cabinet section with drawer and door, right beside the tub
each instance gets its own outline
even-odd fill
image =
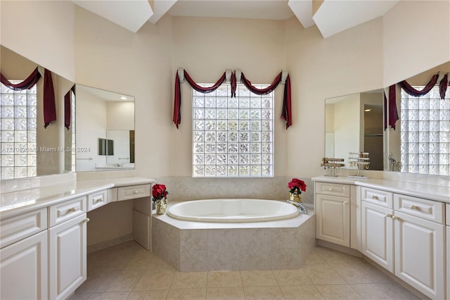
[[[356,187],[330,182],[315,183],[316,238],[360,249]]]

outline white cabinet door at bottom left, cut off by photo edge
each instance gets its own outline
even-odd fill
[[[0,299],[47,299],[47,231],[0,250]]]

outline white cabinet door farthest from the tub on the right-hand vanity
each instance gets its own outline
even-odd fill
[[[395,275],[432,299],[445,298],[445,226],[395,212]]]

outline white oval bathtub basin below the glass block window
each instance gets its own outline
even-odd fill
[[[247,223],[295,218],[299,210],[283,201],[263,199],[207,199],[174,204],[169,217],[195,222]]]

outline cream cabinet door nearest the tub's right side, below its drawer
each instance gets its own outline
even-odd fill
[[[340,196],[316,194],[316,209],[316,237],[349,247],[349,199]]]

